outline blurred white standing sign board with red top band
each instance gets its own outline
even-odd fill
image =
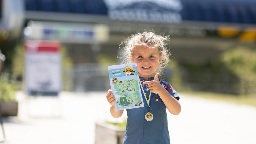
[[[61,91],[61,56],[56,42],[27,41],[26,85],[29,95]]]

